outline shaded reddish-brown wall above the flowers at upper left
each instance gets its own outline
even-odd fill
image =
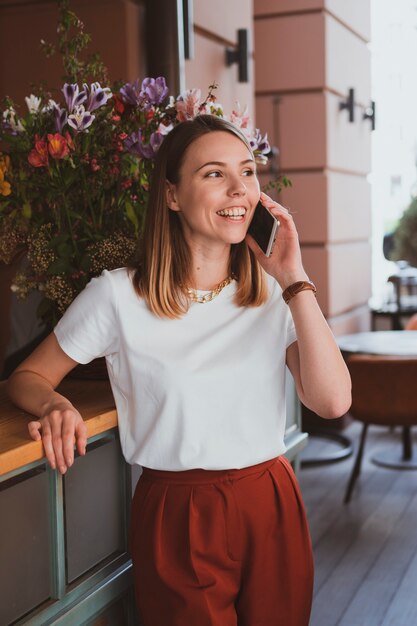
[[[72,0],[70,4],[92,35],[90,51],[100,52],[112,81],[144,76],[141,2]],[[31,84],[46,80],[48,86],[61,86],[64,72],[58,57],[47,59],[39,45],[40,39],[55,42],[57,19],[55,2],[0,3],[0,98],[9,95],[23,104]]]

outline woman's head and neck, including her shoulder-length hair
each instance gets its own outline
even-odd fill
[[[259,196],[252,149],[234,124],[200,115],[168,135],[155,163],[134,275],[156,315],[183,315],[187,289],[210,290],[228,276],[237,279],[238,305],[266,301],[264,273],[244,242]],[[231,217],[235,210],[242,217]]]

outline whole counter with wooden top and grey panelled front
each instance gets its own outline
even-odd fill
[[[118,439],[108,381],[67,379],[58,390],[80,411],[88,448],[65,476],[33,441],[33,416],[0,383],[0,624],[135,624],[128,552],[132,474]],[[7,598],[7,601],[6,601]],[[101,619],[101,618],[100,618]],[[106,618],[107,619],[107,618]]]

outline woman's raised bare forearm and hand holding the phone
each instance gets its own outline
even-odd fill
[[[267,258],[253,239],[248,243],[259,263],[282,290],[308,280],[303,268],[298,234],[287,209],[267,195],[261,200],[278,217],[281,226],[272,255]],[[351,404],[348,369],[312,291],[301,291],[289,301],[297,341],[287,349],[287,365],[301,402],[324,418],[344,415]]]

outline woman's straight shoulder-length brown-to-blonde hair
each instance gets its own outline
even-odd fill
[[[232,123],[214,115],[199,115],[181,122],[164,139],[158,150],[151,180],[149,205],[136,261],[131,265],[133,286],[150,310],[170,319],[184,315],[190,305],[191,252],[176,211],[167,207],[166,181],[176,185],[189,146],[212,132],[228,132],[252,152],[244,134]],[[230,274],[237,281],[235,304],[260,306],[268,298],[265,274],[245,241],[232,244]]]

